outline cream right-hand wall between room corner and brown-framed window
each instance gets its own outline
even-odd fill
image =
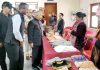
[[[87,14],[85,19],[88,27],[90,27],[90,4],[100,2],[100,0],[80,0],[80,8]]]

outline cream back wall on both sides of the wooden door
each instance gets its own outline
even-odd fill
[[[38,2],[39,7],[44,7],[44,3],[47,2],[47,0],[0,0],[2,3],[3,1],[10,1],[13,6],[15,6],[15,2]],[[71,12],[77,11],[80,8],[80,0],[54,0],[51,3],[57,2],[57,12],[64,13],[64,20],[65,20],[65,26],[69,26],[73,24],[73,21],[71,20]]]

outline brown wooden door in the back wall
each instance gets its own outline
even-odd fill
[[[49,25],[49,14],[51,13],[57,15],[57,3],[45,3],[45,18],[47,25]]]

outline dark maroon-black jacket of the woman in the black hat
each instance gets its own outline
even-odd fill
[[[85,33],[86,33],[86,24],[84,22],[81,22],[77,26],[76,31],[71,32],[72,35],[76,36],[75,46],[79,50],[81,50],[85,45],[85,43],[84,43]]]

